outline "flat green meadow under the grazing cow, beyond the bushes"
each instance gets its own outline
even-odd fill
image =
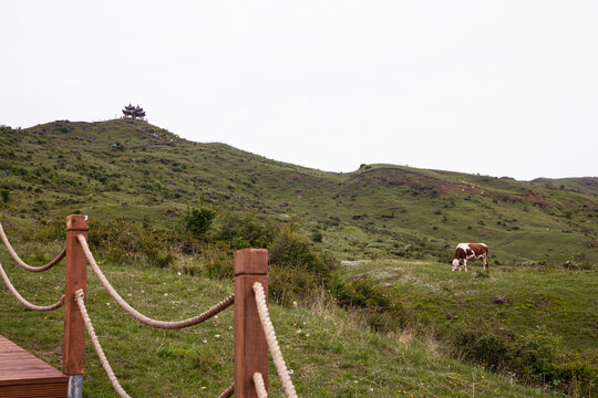
[[[480,263],[468,272],[425,261],[358,262],[347,279],[368,275],[400,297],[408,311],[437,328],[447,325],[508,329],[545,328],[563,352],[598,354],[598,272]],[[448,316],[447,316],[448,315]]]

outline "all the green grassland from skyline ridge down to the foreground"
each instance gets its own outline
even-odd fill
[[[506,368],[501,376],[468,365],[481,360],[447,338],[464,331],[507,343],[538,337],[563,358],[579,355],[584,371],[597,366],[596,177],[516,181],[393,165],[326,172],[224,144],[187,142],[135,121],[0,126],[0,221],[27,261],[42,263],[61,250],[55,226],[62,230],[70,213],[87,214],[92,228],[115,220],[134,227],[106,232],[100,258],[123,295],[158,318],[194,315],[231,292],[229,280],[202,275],[213,274],[206,270],[214,262],[226,268],[233,249],[245,247],[251,233],[288,229],[309,242],[309,255],[321,251],[336,262],[368,260],[334,270],[336,284],[326,298],[315,300],[318,292],[310,292],[297,308],[272,303],[301,396],[533,397],[565,390],[559,380],[546,392],[517,384]],[[156,253],[156,244],[147,242],[185,230],[188,210],[202,207],[216,218],[192,242],[197,256],[190,258],[184,244],[158,247],[157,254],[166,255],[162,260],[172,254],[174,263],[147,265]],[[225,239],[230,214],[245,219]],[[131,231],[141,241],[131,242],[134,261],[123,258],[127,251],[118,245],[131,241]],[[271,237],[257,238],[271,249]],[[451,273],[446,262],[454,247],[467,241],[489,245],[489,273],[476,272],[476,263],[466,274]],[[118,255],[128,265],[107,260]],[[60,296],[62,269],[24,274],[3,250],[0,261],[25,297],[49,303]],[[403,313],[334,304],[334,294],[362,294],[350,291],[361,280],[368,281],[362,289]],[[8,294],[0,290],[0,334],[60,367],[62,310],[31,313]],[[371,303],[367,294],[352,298]],[[126,318],[91,274],[89,300],[106,355],[134,396],[217,396],[230,383],[229,312],[190,331],[164,333]],[[385,327],[384,320],[394,315],[404,317],[401,327]],[[94,354],[87,370],[85,394],[110,396]],[[271,380],[278,391],[276,377]],[[543,379],[535,381],[546,387]],[[571,396],[580,390],[567,387]]]

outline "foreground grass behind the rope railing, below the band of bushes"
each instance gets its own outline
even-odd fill
[[[50,255],[60,245],[48,250]],[[0,259],[30,301],[49,303],[62,293],[62,265],[31,274],[8,265],[4,251]],[[102,266],[132,305],[156,318],[192,316],[233,291],[230,283],[179,275],[176,268]],[[48,314],[24,310],[6,289],[0,289],[0,334],[61,368],[62,310]],[[215,397],[233,380],[230,310],[184,331],[153,329],[125,315],[91,274],[87,308],[107,358],[134,397]],[[349,313],[324,302],[310,308],[270,305],[270,312],[301,397],[558,396],[451,359],[433,341],[369,332]],[[115,397],[89,342],[85,349],[84,396]],[[281,395],[272,366],[269,373],[270,391]]]

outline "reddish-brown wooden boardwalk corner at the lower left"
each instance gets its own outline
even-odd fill
[[[65,398],[69,376],[0,336],[0,398]]]

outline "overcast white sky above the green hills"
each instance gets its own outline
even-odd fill
[[[598,1],[0,2],[0,124],[128,103],[328,171],[598,176]]]

